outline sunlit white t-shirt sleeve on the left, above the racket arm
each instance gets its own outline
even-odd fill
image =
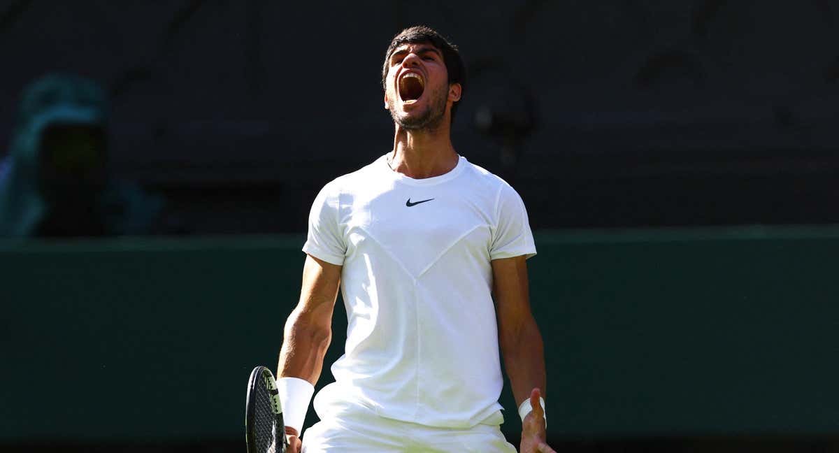
[[[326,263],[341,266],[347,246],[338,225],[338,193],[335,185],[327,184],[315,197],[309,212],[309,233],[303,251]]]

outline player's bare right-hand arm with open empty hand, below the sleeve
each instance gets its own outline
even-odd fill
[[[522,453],[554,452],[545,444],[545,352],[539,326],[530,312],[525,257],[492,260],[492,292],[498,311],[498,339],[504,369],[516,404],[533,404],[522,422]],[[535,404],[534,404],[535,403]]]

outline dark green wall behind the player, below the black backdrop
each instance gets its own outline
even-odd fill
[[[839,434],[839,227],[536,240],[551,435]],[[302,242],[0,242],[0,440],[241,437]],[[327,362],[342,308],[334,329]],[[506,388],[502,403],[517,435]]]

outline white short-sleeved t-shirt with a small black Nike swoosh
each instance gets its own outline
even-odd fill
[[[343,266],[347,344],[321,418],[351,401],[429,426],[502,423],[490,261],[536,254],[510,185],[463,157],[414,180],[385,155],[320,190],[303,251]]]

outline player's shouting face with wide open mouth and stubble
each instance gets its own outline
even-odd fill
[[[388,60],[384,102],[393,122],[409,130],[433,129],[446,107],[460,99],[459,84],[449,86],[440,49],[429,43],[403,44]]]

